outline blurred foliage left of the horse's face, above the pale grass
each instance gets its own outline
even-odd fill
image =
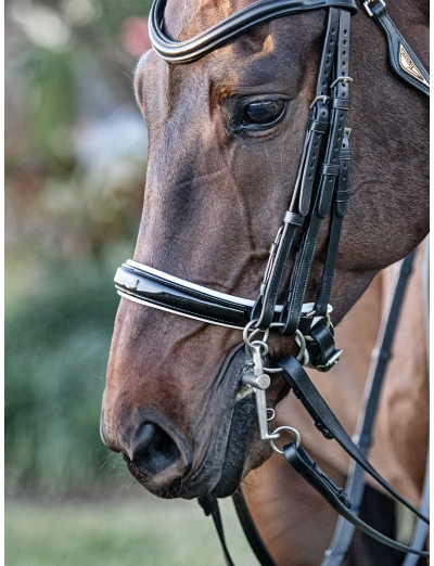
[[[99,419],[118,305],[113,275],[131,256],[146,156],[80,160],[77,140],[87,124],[135,104],[123,25],[149,9],[142,0],[7,4],[9,492],[116,480],[120,456],[102,445]]]

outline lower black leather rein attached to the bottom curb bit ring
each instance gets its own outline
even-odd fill
[[[329,476],[319,467],[319,465],[310,459],[309,454],[304,448],[297,448],[295,441],[284,446],[283,453],[292,467],[314,489],[318,491],[318,493],[329,503],[329,505],[359,530],[378,540],[379,542],[382,542],[386,546],[391,546],[392,549],[401,552],[409,552],[418,556],[430,557],[429,552],[412,549],[406,544],[394,541],[359,519],[357,515],[350,511],[350,501],[348,500],[345,491],[342,488],[339,488],[329,478]]]

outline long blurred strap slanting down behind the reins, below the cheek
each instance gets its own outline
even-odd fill
[[[416,252],[411,252],[403,261],[399,273],[395,280],[395,288],[391,292],[388,305],[384,309],[379,336],[375,348],[372,352],[371,366],[368,374],[367,385],[363,394],[365,407],[360,412],[355,438],[357,446],[365,458],[368,458],[371,447],[371,434],[375,421],[376,409],[380,400],[380,393],[383,385],[388,360],[391,358],[392,343],[394,339],[399,313],[404,303],[404,295],[407,288],[408,279],[411,273]],[[352,502],[352,511],[358,515],[361,500],[365,492],[365,469],[352,462],[345,491]],[[424,511],[422,513],[425,514]],[[420,520],[420,519],[418,519]],[[425,525],[422,523],[422,525]],[[334,530],[333,540],[330,548],[326,551],[321,566],[341,566],[348,552],[353,539],[355,526],[340,516]],[[411,544],[412,548],[421,550],[421,546]]]

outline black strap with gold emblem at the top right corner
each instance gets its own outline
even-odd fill
[[[385,3],[366,8],[386,37],[392,68],[408,85],[430,97],[430,75],[387,14]]]

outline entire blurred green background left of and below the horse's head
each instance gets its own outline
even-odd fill
[[[148,0],[5,1],[5,551],[12,565],[224,564],[99,437],[115,269],[132,256]],[[238,564],[252,564],[230,502]]]

